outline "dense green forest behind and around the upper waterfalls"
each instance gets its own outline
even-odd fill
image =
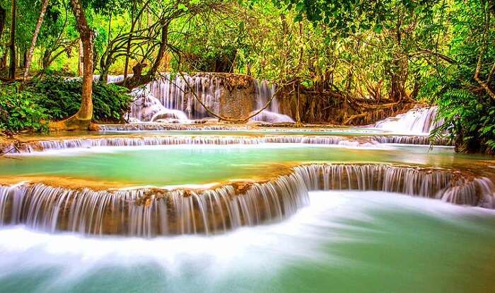
[[[0,127],[45,130],[74,113],[120,120],[126,89],[164,71],[213,71],[322,100],[342,124],[436,104],[446,123],[433,136],[448,132],[461,151],[490,152],[492,18],[486,0],[0,0]],[[82,81],[65,78],[85,71]],[[106,85],[109,74],[127,79]]]

